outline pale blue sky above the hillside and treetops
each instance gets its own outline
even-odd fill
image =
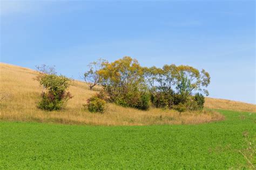
[[[0,17],[1,62],[74,79],[98,58],[191,65],[210,97],[255,104],[254,1],[1,1]]]

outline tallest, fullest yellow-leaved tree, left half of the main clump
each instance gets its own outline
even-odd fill
[[[111,63],[103,63],[98,71],[101,84],[109,96],[109,101],[146,110],[150,106],[150,96],[146,90],[143,68],[136,59],[125,56]]]

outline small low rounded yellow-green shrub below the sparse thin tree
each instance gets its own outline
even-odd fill
[[[106,109],[106,101],[102,100],[101,98],[97,96],[93,96],[87,100],[87,104],[84,106],[87,106],[87,109],[90,112],[100,112],[103,113]]]

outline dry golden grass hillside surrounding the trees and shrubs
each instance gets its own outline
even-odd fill
[[[43,111],[37,108],[42,88],[33,80],[35,70],[0,63],[0,119],[2,121],[33,121],[66,124],[90,125],[152,125],[152,124],[198,124],[220,121],[224,117],[217,112],[203,111],[184,112],[179,116],[173,110],[151,108],[140,111],[131,108],[107,104],[104,114],[92,114],[86,111],[83,104],[87,98],[96,93],[90,91],[87,84],[74,81],[69,91],[74,96],[68,101],[65,109],[60,111]],[[215,103],[215,104],[214,104]],[[224,102],[225,103],[225,102]],[[223,101],[208,98],[206,106],[221,108]],[[225,104],[221,109],[244,110],[243,105]],[[250,111],[255,110],[255,105]]]

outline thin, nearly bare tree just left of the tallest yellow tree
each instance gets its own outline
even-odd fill
[[[84,73],[83,79],[85,82],[90,83],[90,90],[100,83],[101,77],[98,74],[98,70],[102,69],[104,62],[106,62],[106,60],[99,59],[98,61],[91,62],[88,65],[89,70]]]

